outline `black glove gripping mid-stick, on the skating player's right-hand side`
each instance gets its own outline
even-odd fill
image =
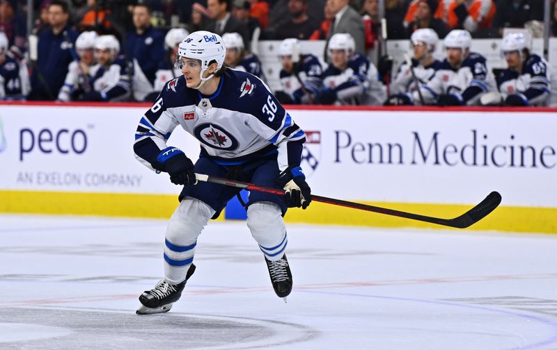
[[[284,199],[288,208],[308,208],[311,203],[311,188],[306,183],[301,167],[289,167],[281,173],[278,182],[285,190]]]

